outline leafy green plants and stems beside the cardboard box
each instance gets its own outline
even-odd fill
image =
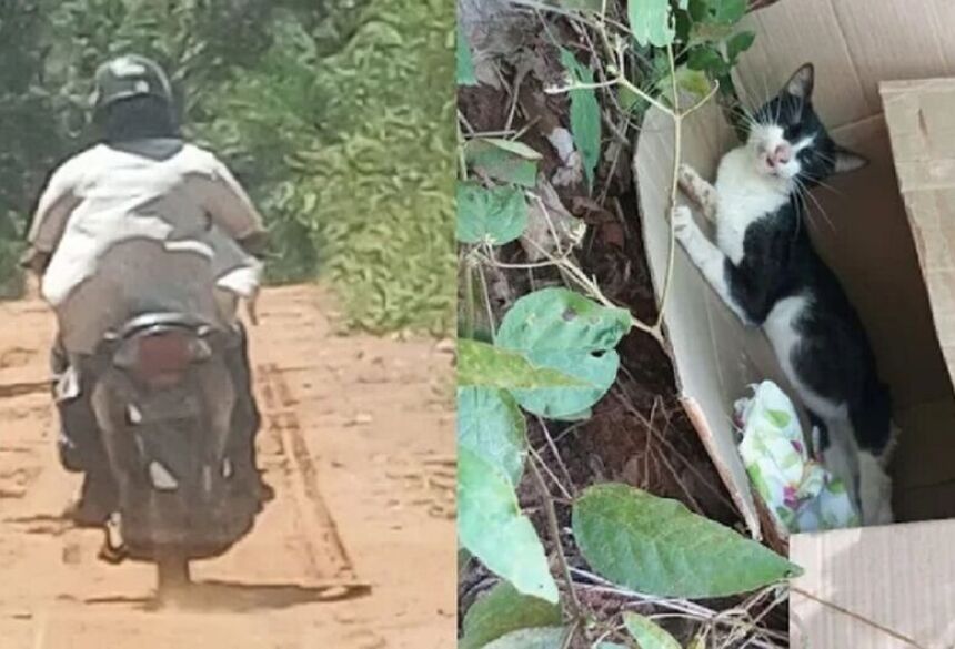
[[[565,71],[564,83],[545,92],[569,95],[563,123],[570,125],[586,181],[581,184],[589,194],[596,195],[594,187],[605,181],[600,178],[607,143],[604,124],[619,123],[621,113],[639,123],[641,112],[654,105],[673,120],[680,142],[682,120],[703,102],[716,97],[733,108],[730,71],[754,38],[738,29],[745,0],[630,0],[625,8],[600,0],[550,4],[555,6],[553,16],[544,17],[541,10],[535,18],[543,21],[541,32],[550,34],[553,47],[535,54],[557,59]],[[536,4],[533,9],[537,10]],[[561,33],[561,28],[575,34],[572,44],[564,43],[574,51],[556,42],[553,34]],[[576,40],[576,34],[587,38]],[[459,47],[460,85],[474,83],[475,61],[468,47]],[[544,88],[552,84],[550,79],[541,81]],[[611,119],[602,119],[602,112]],[[494,590],[468,611],[461,646],[622,649],[635,642],[642,649],[678,649],[681,643],[659,620],[693,619],[687,615],[694,610],[688,606],[692,599],[783,590],[801,569],[677,500],[626,484],[577,490],[569,485],[570,475],[560,458],[553,469],[545,464],[541,449],[550,445],[554,456],[559,450],[544,422],[591,418],[593,407],[616,381],[621,365],[616,349],[624,335],[639,329],[662,345],[665,341],[660,316],[654,323],[643,322],[603,294],[597,280],[580,265],[573,244],[562,241],[546,210],[541,210],[546,227],[535,232],[531,226],[531,210],[544,204],[549,189],[556,192],[545,174],[537,174],[545,149],[531,138],[520,141],[526,129],[513,125],[512,140],[466,132],[468,124],[461,134],[459,558],[465,566],[480,561],[500,578]],[[678,162],[678,151],[674,153]],[[674,196],[676,189],[672,178]],[[557,210],[552,212],[556,217]],[[503,246],[517,240],[527,255],[535,251],[540,258],[525,262],[520,255],[505,254]],[[486,288],[491,272],[511,271],[513,276],[544,267],[552,270],[549,278],[515,282],[511,287],[523,287],[523,295],[505,300],[495,310]],[[563,286],[553,285],[554,276]],[[661,314],[667,285],[668,280]],[[484,331],[479,331],[482,325]],[[546,444],[535,442],[537,447],[532,447],[529,419]],[[563,484],[561,470],[567,476]],[[529,504],[526,486],[534,487],[539,504]],[[559,507],[570,514],[570,536]],[[569,556],[571,548],[576,551]],[[592,572],[580,569],[577,558]],[[677,612],[651,619],[632,611],[614,612],[604,601],[594,606],[579,597],[579,589],[595,581],[611,586],[607,590],[635,594],[661,609],[666,608],[661,602],[670,600]],[[701,617],[700,628],[691,629],[693,637],[687,637],[688,647],[702,647],[716,637],[716,617]],[[748,632],[741,631],[733,640]]]

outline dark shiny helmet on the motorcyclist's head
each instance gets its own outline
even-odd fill
[[[92,97],[94,113],[101,114],[115,102],[137,97],[154,97],[172,110],[172,85],[158,63],[127,54],[99,67]]]

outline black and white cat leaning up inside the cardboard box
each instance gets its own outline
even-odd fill
[[[681,168],[681,189],[715,221],[716,244],[686,206],[674,207],[674,227],[730,308],[766,333],[863,525],[882,525],[893,518],[889,394],[858,315],[813,249],[801,195],[866,160],[830,138],[813,110],[813,78],[812,64],[803,65],[752,116],[746,142],[721,160],[715,186]]]

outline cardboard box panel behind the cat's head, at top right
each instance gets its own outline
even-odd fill
[[[882,113],[883,80],[955,73],[951,0],[784,0],[746,21],[757,37],[736,71],[744,101],[758,105],[810,61],[831,129]]]

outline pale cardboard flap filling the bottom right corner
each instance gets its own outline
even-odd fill
[[[955,647],[955,520],[797,534],[793,647]]]

